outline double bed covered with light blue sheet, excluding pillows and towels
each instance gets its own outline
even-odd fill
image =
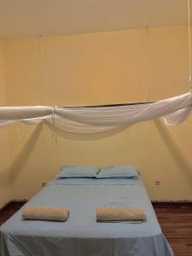
[[[67,222],[22,220],[0,228],[1,256],[171,256],[141,177],[55,177],[26,206],[67,207]],[[142,207],[142,224],[96,223],[96,207]]]

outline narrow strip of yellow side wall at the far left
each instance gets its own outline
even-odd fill
[[[0,39],[0,106],[6,105],[4,43]],[[0,131],[0,208],[11,199],[9,177],[9,130]]]

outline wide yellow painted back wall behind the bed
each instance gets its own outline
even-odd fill
[[[188,90],[183,26],[21,38],[5,44],[9,105],[143,102],[148,91],[154,101]],[[58,145],[46,125],[13,126],[14,198],[30,198],[67,164],[137,166],[152,200],[192,200],[191,125],[192,119],[174,127],[155,120],[107,137],[59,131]],[[154,185],[156,180],[160,186]]]

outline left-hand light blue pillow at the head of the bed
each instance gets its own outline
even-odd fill
[[[56,177],[96,177],[97,167],[92,166],[61,166]]]

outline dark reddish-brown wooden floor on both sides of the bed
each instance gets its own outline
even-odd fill
[[[0,225],[23,204],[24,202],[11,202],[4,207],[0,212]],[[192,256],[192,203],[154,203],[154,210],[174,255]]]

